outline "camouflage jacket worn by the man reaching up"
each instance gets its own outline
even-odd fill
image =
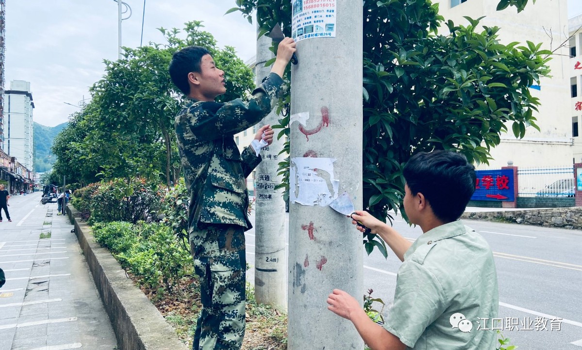
[[[233,135],[260,122],[282,95],[283,80],[271,73],[246,100],[227,103],[186,98],[175,119],[186,187],[189,231],[205,224],[251,228],[245,178],[261,162],[252,148],[240,153]]]

